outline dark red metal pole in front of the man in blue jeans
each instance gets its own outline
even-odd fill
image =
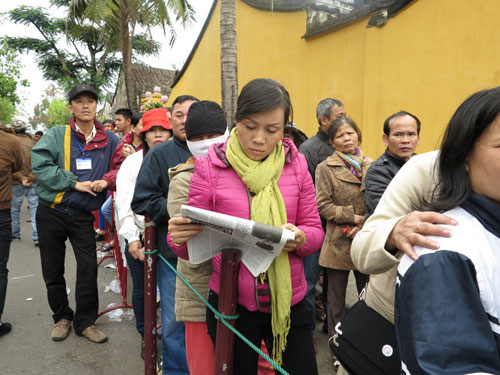
[[[153,221],[144,218],[144,250],[156,249],[156,228]],[[144,259],[144,374],[156,374],[156,254]]]

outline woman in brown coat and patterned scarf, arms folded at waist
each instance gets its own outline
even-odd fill
[[[338,118],[328,128],[335,152],[316,169],[316,199],[321,217],[327,220],[326,236],[319,264],[328,277],[328,334],[345,314],[345,295],[349,271],[354,270],[361,292],[368,275],[357,271],[351,260],[352,239],[364,223],[365,175],[372,160],[358,147],[361,131],[348,118]]]

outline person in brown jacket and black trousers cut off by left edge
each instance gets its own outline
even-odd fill
[[[4,128],[0,127],[2,130]],[[10,242],[12,240],[11,227],[11,201],[12,201],[12,174],[21,170],[23,166],[23,153],[19,140],[7,134],[6,130],[0,131],[0,336],[9,333],[12,325],[2,323],[2,313],[5,306],[7,293],[7,262],[10,255]]]

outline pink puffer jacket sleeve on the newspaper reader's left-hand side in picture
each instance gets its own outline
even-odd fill
[[[212,205],[212,181],[210,180],[210,161],[207,157],[196,158],[194,164],[194,174],[191,177],[189,185],[188,205],[202,208],[204,210],[213,210]],[[177,256],[189,260],[187,245],[177,246],[172,241],[170,233],[167,235],[168,246]]]

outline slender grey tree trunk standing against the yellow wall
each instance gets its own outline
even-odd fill
[[[220,3],[220,47],[222,109],[228,127],[232,127],[238,99],[235,0]]]

